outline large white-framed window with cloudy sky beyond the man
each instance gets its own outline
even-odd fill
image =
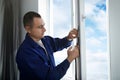
[[[81,64],[82,80],[109,79],[106,10],[106,0],[39,0],[39,12],[45,19],[47,34],[62,38],[72,27],[80,27],[81,62],[77,63]],[[54,56],[57,65],[66,58],[67,49]],[[61,80],[75,80],[75,67],[73,62]]]

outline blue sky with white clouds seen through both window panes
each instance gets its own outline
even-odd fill
[[[67,36],[72,27],[70,0],[53,4],[54,36]],[[84,5],[87,80],[108,80],[106,0],[85,0]],[[57,55],[57,61],[65,56]]]

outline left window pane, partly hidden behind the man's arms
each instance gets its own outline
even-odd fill
[[[71,30],[71,0],[53,0],[53,36],[63,38]],[[67,49],[54,54],[56,65],[67,57]],[[74,80],[74,66],[71,64],[61,80]]]

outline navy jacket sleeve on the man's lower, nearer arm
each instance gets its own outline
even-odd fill
[[[58,66],[51,67],[43,58],[29,50],[18,52],[16,61],[20,72],[24,73],[25,77],[34,77],[34,80],[60,80],[70,65],[66,59]]]

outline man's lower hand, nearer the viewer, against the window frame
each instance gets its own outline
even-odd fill
[[[68,57],[67,60],[71,63],[75,58],[79,56],[79,47],[70,47],[67,51]]]

